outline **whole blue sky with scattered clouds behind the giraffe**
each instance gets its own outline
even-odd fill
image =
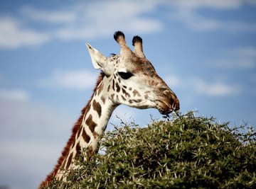
[[[36,188],[52,171],[97,78],[85,42],[119,54],[113,33],[146,57],[181,113],[256,125],[256,1],[0,1],[0,186]],[[160,119],[124,105],[118,124]],[[113,126],[108,125],[107,130]]]

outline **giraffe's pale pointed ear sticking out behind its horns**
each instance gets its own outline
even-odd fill
[[[107,57],[103,56],[98,50],[95,50],[89,43],[86,43],[86,47],[95,69],[104,69],[107,67]]]

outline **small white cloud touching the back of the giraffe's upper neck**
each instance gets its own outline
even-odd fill
[[[83,90],[95,85],[97,74],[86,70],[55,70],[50,76],[38,81],[40,87]]]

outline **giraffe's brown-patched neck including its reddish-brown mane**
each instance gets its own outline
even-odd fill
[[[107,122],[117,107],[117,104],[114,104],[109,98],[110,86],[107,85],[109,81],[110,78],[107,78],[105,74],[100,74],[92,98],[82,109],[82,115],[73,127],[73,133],[58,159],[58,163],[39,188],[46,187],[54,177],[59,181],[65,181],[63,173],[65,170],[75,168],[73,164],[75,157],[79,156],[83,149],[89,150],[90,153],[96,151],[97,137],[105,132]]]

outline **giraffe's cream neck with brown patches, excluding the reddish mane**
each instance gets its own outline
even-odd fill
[[[75,139],[55,176],[58,180],[61,180],[63,176],[61,170],[74,168],[73,162],[76,157],[80,156],[82,149],[87,149],[89,153],[94,153],[97,150],[97,137],[105,132],[107,122],[117,107],[107,96],[107,86],[104,85],[104,79],[107,78],[104,77],[98,84],[92,99],[87,105],[82,124],[76,132]]]

